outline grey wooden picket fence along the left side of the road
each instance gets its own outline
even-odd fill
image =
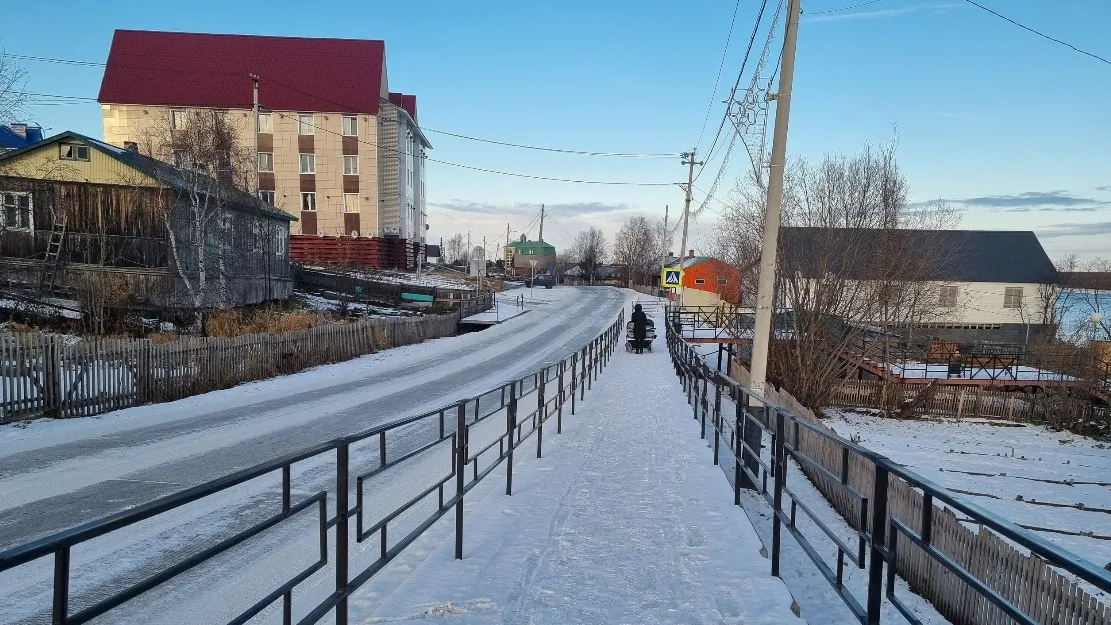
[[[364,319],[232,339],[98,340],[0,333],[0,423],[91,416],[451,336],[459,314]]]

